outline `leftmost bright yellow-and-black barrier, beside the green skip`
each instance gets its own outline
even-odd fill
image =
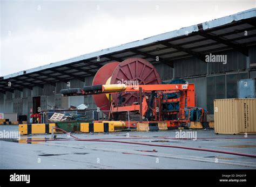
[[[20,134],[50,134],[55,124],[20,124]],[[53,133],[55,129],[53,129]]]

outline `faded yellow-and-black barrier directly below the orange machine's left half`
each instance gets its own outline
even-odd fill
[[[138,123],[137,131],[159,131],[159,130],[168,130],[167,123],[156,122],[156,123]]]

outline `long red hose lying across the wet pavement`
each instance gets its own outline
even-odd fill
[[[58,129],[58,130],[63,131],[67,134],[70,134],[70,133],[62,130],[61,128],[55,127],[55,129]],[[73,136],[71,134],[70,134],[70,136],[75,138],[75,140],[77,140],[77,141],[101,141],[101,142],[129,143],[129,144],[144,145],[144,146],[180,148],[180,149],[200,150],[200,151],[204,151],[204,152],[213,152],[213,153],[223,153],[223,154],[231,154],[231,155],[238,155],[238,156],[247,156],[247,157],[254,157],[254,158],[256,157],[256,155],[252,155],[252,154],[227,152],[227,151],[215,150],[215,149],[203,149],[203,148],[193,148],[193,147],[183,147],[183,146],[158,145],[158,144],[152,144],[152,143],[139,143],[139,142],[115,141],[115,140],[80,139],[80,138],[77,138],[76,136]],[[48,141],[48,140],[30,140],[30,141]],[[54,140],[52,140],[52,141],[54,141]]]

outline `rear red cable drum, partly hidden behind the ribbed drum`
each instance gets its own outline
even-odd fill
[[[112,76],[114,69],[118,66],[119,63],[120,62],[110,62],[101,67],[93,78],[92,85],[106,84],[106,81],[109,79],[109,77]],[[92,95],[92,97],[100,110],[109,110],[109,99],[107,99],[105,93]],[[104,113],[108,114],[108,112]]]

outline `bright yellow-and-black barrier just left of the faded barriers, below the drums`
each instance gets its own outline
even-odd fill
[[[81,123],[81,132],[114,132],[114,125],[111,123]]]

